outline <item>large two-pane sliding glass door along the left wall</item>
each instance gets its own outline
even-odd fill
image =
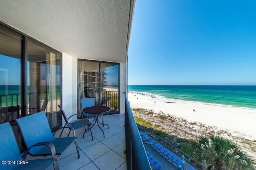
[[[0,123],[9,121],[18,135],[15,119],[45,111],[54,131],[61,126],[58,104],[61,53],[0,25]]]

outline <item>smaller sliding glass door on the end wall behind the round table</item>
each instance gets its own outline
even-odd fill
[[[96,106],[119,111],[119,64],[78,60],[78,112],[81,98],[94,98]]]

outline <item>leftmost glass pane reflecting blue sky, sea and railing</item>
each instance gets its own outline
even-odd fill
[[[0,123],[21,117],[20,58],[21,38],[0,28]]]

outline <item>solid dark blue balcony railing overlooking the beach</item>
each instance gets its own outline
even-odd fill
[[[128,170],[151,170],[132,110],[125,94],[125,136]]]

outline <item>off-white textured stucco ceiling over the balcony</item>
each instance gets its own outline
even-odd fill
[[[125,62],[134,0],[0,0],[0,21],[71,57]]]

